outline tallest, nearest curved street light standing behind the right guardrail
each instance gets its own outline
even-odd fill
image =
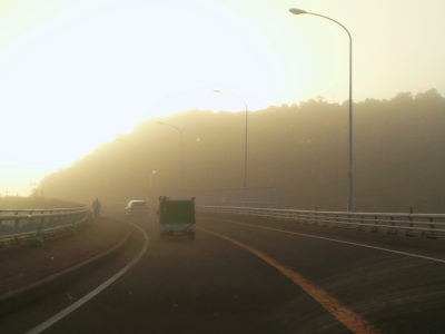
[[[347,205],[346,209],[348,212],[354,210],[354,159],[353,159],[353,37],[349,32],[349,30],[342,24],[340,22],[314,12],[305,11],[301,9],[297,8],[290,8],[289,11],[293,14],[310,14],[319,18],[324,18],[326,20],[329,20],[338,26],[340,26],[349,37],[349,124],[348,124],[348,171],[347,171],[347,179],[348,179],[348,185],[347,185]]]

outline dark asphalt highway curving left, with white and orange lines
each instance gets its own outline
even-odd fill
[[[119,254],[0,332],[445,333],[441,250],[255,219],[201,216],[195,240],[136,224]]]

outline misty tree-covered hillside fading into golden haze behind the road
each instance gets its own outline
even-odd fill
[[[40,189],[48,197],[123,206],[131,198],[199,198],[239,188],[244,117],[191,110],[144,120],[48,176]],[[184,130],[184,185],[178,132],[158,120]],[[355,106],[354,125],[356,210],[445,212],[444,97],[429,90],[368,99]],[[248,147],[248,187],[275,187],[279,207],[345,208],[346,104],[316,99],[250,112]]]

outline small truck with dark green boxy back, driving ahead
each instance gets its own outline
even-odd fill
[[[159,197],[159,234],[164,236],[188,236],[195,239],[195,197],[170,199]]]

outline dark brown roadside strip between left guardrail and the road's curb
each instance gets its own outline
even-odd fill
[[[99,218],[71,236],[46,243],[41,247],[10,248],[0,252],[0,301],[7,301],[50,278],[80,268],[122,242],[127,224]],[[48,281],[48,282],[47,282]]]

